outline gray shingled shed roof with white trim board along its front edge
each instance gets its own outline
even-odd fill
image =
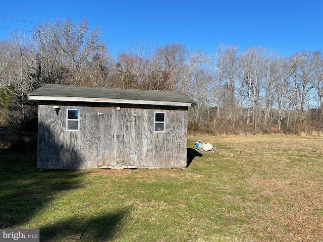
[[[114,102],[190,106],[196,102],[184,92],[81,87],[46,84],[28,95],[30,100]]]

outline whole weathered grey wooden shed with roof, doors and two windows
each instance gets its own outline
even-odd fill
[[[187,110],[177,91],[47,84],[38,100],[38,168],[187,165]]]

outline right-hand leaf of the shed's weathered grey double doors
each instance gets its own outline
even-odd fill
[[[115,133],[116,165],[134,166],[136,164],[136,122],[134,108],[121,108],[117,111],[117,130]]]

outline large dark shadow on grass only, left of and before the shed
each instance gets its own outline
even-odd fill
[[[15,228],[60,197],[82,187],[79,170],[38,170],[35,152],[0,149],[0,228]]]

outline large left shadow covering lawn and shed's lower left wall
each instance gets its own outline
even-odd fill
[[[38,145],[46,155],[42,160],[53,166],[70,162],[71,167],[82,167],[82,158],[71,144],[61,144],[48,125],[39,125],[41,139],[48,138],[47,148]],[[85,172],[80,170],[38,170],[35,151],[1,149],[0,146],[0,228],[23,226],[53,201],[60,199],[61,191],[83,187]],[[39,148],[40,147],[40,148]],[[53,153],[51,153],[53,151]],[[70,158],[61,160],[60,155]],[[39,152],[38,152],[39,155]],[[51,157],[51,158],[50,158]],[[38,157],[39,158],[39,157]],[[53,161],[55,159],[55,162]]]

